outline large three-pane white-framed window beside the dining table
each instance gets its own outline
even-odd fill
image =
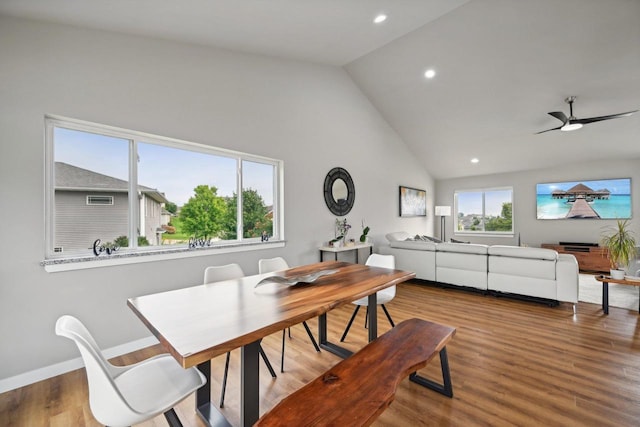
[[[283,240],[283,162],[45,117],[46,259]]]

